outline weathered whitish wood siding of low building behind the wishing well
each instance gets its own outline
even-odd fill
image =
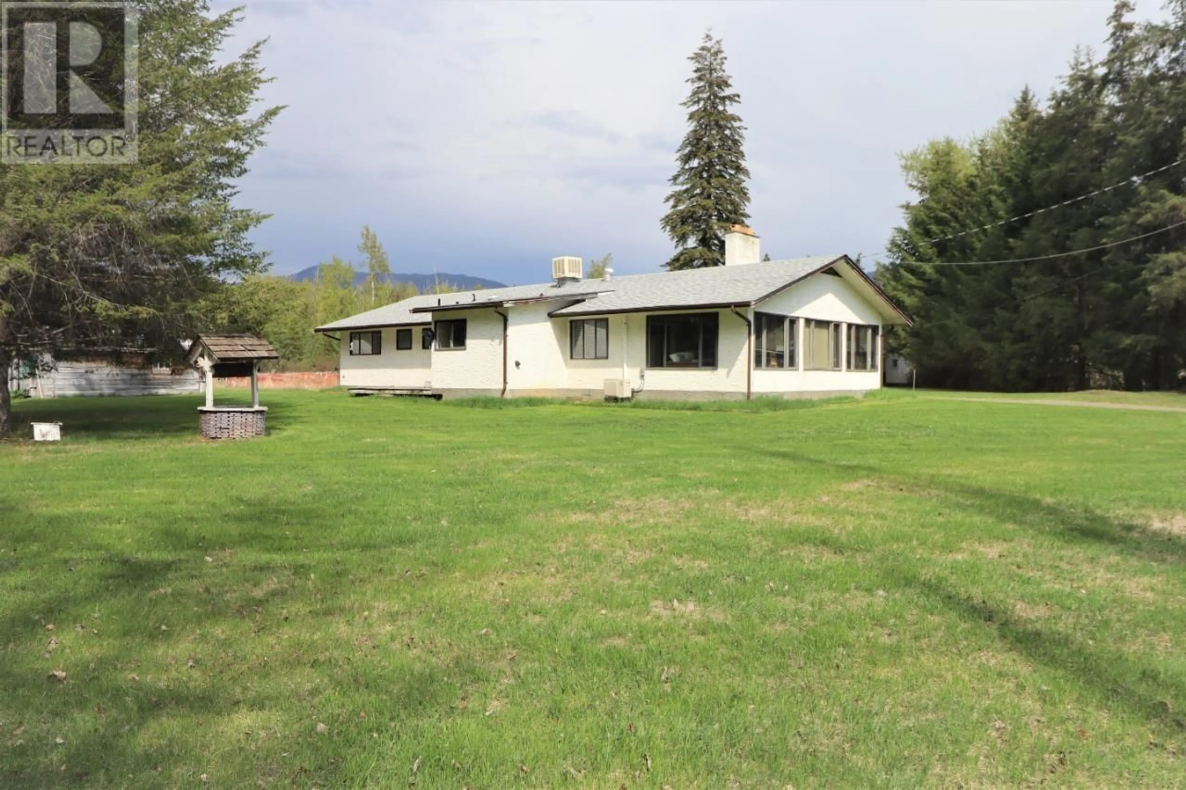
[[[21,381],[33,397],[79,395],[177,395],[202,391],[196,370],[120,368],[98,362],[58,362]]]

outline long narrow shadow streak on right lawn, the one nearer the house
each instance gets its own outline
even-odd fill
[[[949,498],[955,505],[1008,521],[1035,533],[1052,534],[1067,542],[1105,543],[1118,552],[1149,562],[1182,562],[1186,541],[1172,535],[1159,535],[1142,524],[1112,518],[1089,508],[1071,508],[1037,497],[968,485],[948,477],[933,474],[904,474],[880,466],[829,461],[785,450],[753,448],[778,460],[822,466],[837,472],[881,478],[906,489],[932,491]]]

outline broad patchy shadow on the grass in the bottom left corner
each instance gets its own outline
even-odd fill
[[[191,543],[184,535],[177,540]],[[457,699],[458,682],[484,671],[465,663],[388,664],[349,644],[311,648],[310,638],[332,632],[326,631],[332,623],[323,626],[319,616],[318,623],[294,627],[280,612],[332,611],[349,598],[350,580],[326,579],[325,591],[310,597],[296,584],[311,578],[308,568],[283,556],[213,566],[191,544],[152,556],[91,553],[77,568],[68,567],[75,558],[69,543],[0,556],[5,588],[13,593],[0,606],[0,788],[199,786],[206,759],[189,745],[191,734],[221,747],[222,777],[211,786],[264,777],[266,784],[338,786],[346,758],[374,748],[371,737],[359,732],[372,725],[351,725],[339,695],[382,688],[384,705],[414,715],[446,708]],[[155,598],[148,614],[142,603],[162,588],[178,592]],[[91,607],[100,605],[103,616],[93,618]],[[251,636],[240,627],[225,648],[211,648],[211,641],[218,643],[211,635],[236,633],[244,622],[253,623]],[[45,630],[49,623],[57,624],[53,632]],[[275,641],[289,631],[292,642]],[[46,646],[50,641],[60,645]],[[261,648],[263,642],[269,646]],[[59,668],[66,671],[63,680],[47,676]],[[310,678],[299,702],[292,699],[294,676]],[[318,718],[307,718],[310,709]],[[243,733],[240,721],[261,712],[274,716],[264,716],[266,731]],[[331,722],[333,738],[312,734],[319,718]],[[232,725],[240,738],[223,733]],[[299,763],[269,747],[280,732],[285,748],[301,752]]]

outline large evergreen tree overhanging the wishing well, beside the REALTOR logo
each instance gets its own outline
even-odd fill
[[[279,108],[257,112],[262,43],[228,59],[238,11],[136,0],[139,163],[0,165],[0,434],[13,359],[70,348],[170,345],[197,298],[263,256],[264,216],[234,205]],[[176,345],[176,343],[173,343]]]

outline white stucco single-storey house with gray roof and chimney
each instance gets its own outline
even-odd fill
[[[847,255],[761,261],[748,228],[726,266],[426,294],[317,327],[356,394],[746,399],[881,387],[881,336],[908,318]]]

